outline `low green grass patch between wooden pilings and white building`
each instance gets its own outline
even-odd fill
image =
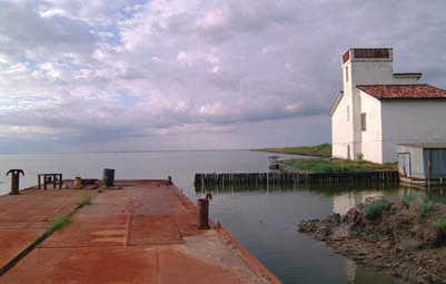
[[[396,164],[375,164],[368,160],[339,158],[287,159],[284,164],[310,173],[397,170]]]

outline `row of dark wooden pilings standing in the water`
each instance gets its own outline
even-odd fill
[[[276,185],[276,184],[378,184],[398,183],[398,172],[363,173],[232,173],[232,174],[196,174],[195,185]]]

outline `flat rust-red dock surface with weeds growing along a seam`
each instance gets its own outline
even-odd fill
[[[0,283],[280,283],[225,228],[198,229],[195,204],[167,182],[98,190],[63,180],[0,196]],[[86,193],[91,203],[77,205]]]

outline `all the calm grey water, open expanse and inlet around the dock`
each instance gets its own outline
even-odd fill
[[[407,188],[294,187],[294,188],[194,188],[196,173],[268,172],[267,153],[151,151],[47,155],[0,155],[0,170],[21,168],[20,188],[37,184],[39,173],[61,173],[63,178],[98,178],[103,168],[113,168],[116,179],[167,178],[191,200],[211,190],[210,215],[260,259],[284,283],[403,283],[367,271],[324,244],[297,232],[301,219],[324,218],[345,213],[370,195],[389,200],[419,195]],[[280,158],[296,157],[280,155]],[[0,194],[10,190],[10,177],[0,177]],[[437,193],[436,198],[444,199]]]

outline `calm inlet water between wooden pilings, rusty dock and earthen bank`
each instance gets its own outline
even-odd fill
[[[368,196],[389,202],[405,196],[445,199],[440,192],[406,186],[360,185],[215,186],[195,188],[197,198],[212,192],[210,217],[220,221],[284,283],[404,283],[334,253],[325,244],[297,232],[301,219],[345,214]]]

